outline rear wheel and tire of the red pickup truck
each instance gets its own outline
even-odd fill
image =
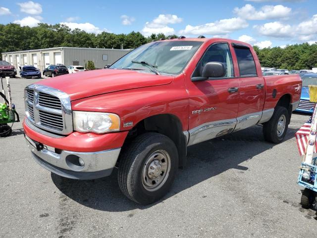
[[[271,119],[263,123],[264,139],[278,144],[283,141],[289,122],[288,111],[284,107],[276,107]]]

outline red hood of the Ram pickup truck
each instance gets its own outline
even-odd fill
[[[45,79],[37,84],[67,93],[71,101],[116,91],[171,83],[173,76],[123,69],[100,69]]]

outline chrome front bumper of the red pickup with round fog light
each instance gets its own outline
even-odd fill
[[[98,152],[73,152],[62,150],[55,153],[45,147],[38,150],[32,139],[26,144],[35,161],[45,169],[70,179],[98,179],[109,176],[119,157],[121,148]],[[79,160],[81,163],[79,163]]]

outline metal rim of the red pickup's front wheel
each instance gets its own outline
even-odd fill
[[[142,184],[148,191],[156,191],[166,182],[170,171],[170,157],[165,150],[157,150],[146,160],[142,170]]]

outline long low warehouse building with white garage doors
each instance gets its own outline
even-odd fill
[[[2,53],[5,60],[16,67],[33,65],[43,72],[50,64],[82,65],[88,60],[95,63],[96,68],[104,68],[106,64],[112,64],[131,50],[102,49],[102,48],[77,48],[55,47],[40,50],[17,51]]]

